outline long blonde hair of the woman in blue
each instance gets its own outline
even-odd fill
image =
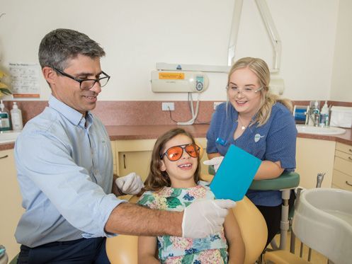
[[[259,85],[263,87],[263,89],[259,91],[261,93],[261,105],[259,106],[258,114],[256,115],[256,119],[253,123],[258,122],[259,127],[264,125],[268,121],[271,115],[271,108],[276,102],[282,103],[286,108],[288,108],[288,110],[290,110],[291,113],[293,112],[293,105],[290,100],[280,98],[279,96],[276,96],[276,94],[269,91],[270,71],[268,64],[266,64],[263,59],[252,57],[244,57],[239,59],[229,70],[227,84],[229,84],[230,76],[234,73],[234,71],[244,68],[248,68],[253,71],[258,77]]]

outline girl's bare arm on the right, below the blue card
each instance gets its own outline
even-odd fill
[[[234,212],[229,210],[229,214],[224,222],[225,237],[229,246],[229,263],[244,263],[246,249],[242,239],[241,230],[237,223]]]

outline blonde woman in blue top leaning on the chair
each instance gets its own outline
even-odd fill
[[[297,130],[292,104],[269,91],[270,71],[262,59],[239,59],[229,71],[227,102],[217,107],[207,133],[208,158],[221,162],[230,144],[262,160],[256,180],[294,171]],[[215,162],[216,163],[216,162]],[[216,168],[216,166],[215,166]],[[280,230],[280,191],[249,190],[268,226],[268,243]],[[291,194],[290,204],[294,201]]]

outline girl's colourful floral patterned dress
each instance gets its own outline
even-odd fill
[[[159,192],[143,193],[138,204],[152,209],[182,211],[195,200],[214,199],[208,183],[199,181],[192,188],[164,187]],[[158,236],[161,263],[227,263],[227,241],[224,230],[204,239],[187,239],[179,236]]]

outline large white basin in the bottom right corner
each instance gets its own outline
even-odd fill
[[[334,263],[351,263],[352,192],[334,188],[303,190],[293,231],[307,246]]]

